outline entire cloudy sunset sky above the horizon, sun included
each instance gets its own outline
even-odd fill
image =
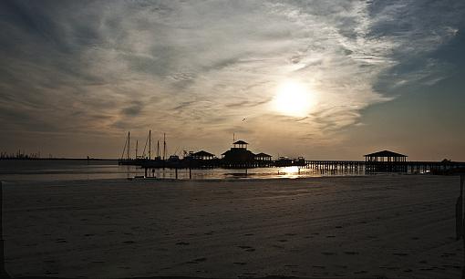
[[[0,150],[465,161],[464,28],[462,0],[4,0]]]

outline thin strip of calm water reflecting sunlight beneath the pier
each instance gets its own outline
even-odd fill
[[[326,175],[363,175],[364,172],[316,171],[286,168],[257,168],[249,170],[192,170],[192,179],[270,179],[301,178]],[[0,181],[60,181],[132,178],[144,175],[136,166],[119,166],[118,160],[0,160]],[[156,170],[148,173],[157,178],[175,178],[175,171]],[[189,179],[188,170],[178,171],[179,179]]]

